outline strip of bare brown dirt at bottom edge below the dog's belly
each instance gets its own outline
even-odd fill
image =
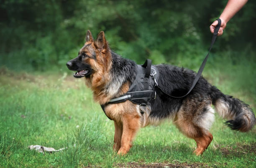
[[[116,167],[119,168],[199,168],[199,167],[205,167],[209,168],[208,165],[202,164],[202,163],[138,163],[138,162],[129,162],[129,163],[118,163],[116,164]]]

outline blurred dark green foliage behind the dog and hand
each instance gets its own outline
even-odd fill
[[[13,70],[65,68],[88,29],[105,31],[120,55],[142,63],[198,67],[210,45],[209,25],[227,0],[8,0],[0,3],[1,65]],[[234,64],[256,53],[256,3],[249,1],[227,25],[213,52]],[[214,57],[222,57],[215,54]],[[185,61],[184,61],[185,60]],[[189,60],[189,61],[187,61]],[[66,68],[65,68],[66,69]]]

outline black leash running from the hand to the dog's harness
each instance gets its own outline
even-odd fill
[[[201,77],[202,71],[203,71],[204,68],[205,68],[205,64],[206,64],[206,62],[207,62],[207,59],[208,59],[209,53],[210,53],[210,51],[211,51],[211,49],[212,49],[212,46],[213,46],[213,44],[214,44],[214,42],[215,42],[215,40],[216,40],[216,38],[217,38],[217,36],[218,36],[218,31],[219,31],[219,29],[220,29],[221,20],[220,20],[220,18],[218,18],[217,20],[218,20],[218,25],[217,25],[217,26],[215,27],[215,29],[214,29],[214,33],[213,33],[213,35],[212,35],[212,42],[211,42],[210,49],[209,49],[209,51],[208,51],[208,53],[207,53],[207,55],[206,55],[204,61],[202,62],[201,66],[200,66],[200,68],[199,68],[199,70],[198,70],[198,72],[197,72],[197,75],[196,75],[196,77],[195,77],[195,79],[194,79],[194,81],[193,81],[193,84],[192,84],[191,88],[189,89],[189,91],[187,92],[187,94],[185,94],[184,96],[175,97],[175,96],[172,96],[172,95],[167,94],[168,96],[174,97],[174,98],[182,98],[182,97],[185,97],[185,96],[187,96],[187,95],[192,91],[192,89],[193,89],[193,88],[195,87],[195,85],[197,84],[197,81],[198,81],[199,78]],[[158,87],[159,87],[159,86],[158,86]],[[159,89],[161,89],[161,88],[159,87]],[[161,89],[161,90],[162,90],[162,89]],[[166,93],[165,93],[165,94],[166,94]]]

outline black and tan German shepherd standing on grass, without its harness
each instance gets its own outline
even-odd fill
[[[196,73],[177,66],[159,64],[158,85],[165,93],[173,96],[185,94]],[[253,110],[241,100],[225,95],[208,83],[202,76],[195,88],[186,97],[172,98],[156,88],[156,99],[146,106],[139,106],[127,100],[108,104],[110,99],[128,92],[136,78],[136,63],[124,59],[110,50],[101,31],[97,39],[87,31],[86,43],[78,56],[67,63],[71,71],[77,71],[75,78],[85,78],[87,87],[93,92],[96,102],[105,104],[105,114],[114,121],[115,136],[113,150],[126,154],[132,147],[132,140],[140,127],[158,125],[170,119],[187,137],[197,143],[194,151],[202,154],[212,141],[209,129],[214,121],[214,110],[223,117],[232,130],[247,132],[256,123]]]

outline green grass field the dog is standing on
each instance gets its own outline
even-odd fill
[[[256,96],[248,88],[243,92],[235,78],[206,74],[225,94],[255,111]],[[199,157],[192,154],[194,140],[172,122],[139,130],[130,152],[118,156],[112,151],[113,121],[93,102],[83,79],[3,68],[0,95],[0,167],[256,167],[256,127],[247,133],[231,131],[217,114],[210,130],[213,141]],[[68,149],[43,155],[28,145]]]

